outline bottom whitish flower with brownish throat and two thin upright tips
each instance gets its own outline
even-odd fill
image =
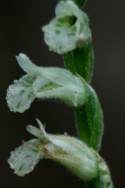
[[[31,172],[41,159],[51,159],[66,167],[82,180],[91,180],[97,176],[97,155],[82,141],[66,135],[47,134],[37,120],[40,129],[28,126],[27,130],[36,139],[25,142],[11,153],[8,160],[17,175]]]

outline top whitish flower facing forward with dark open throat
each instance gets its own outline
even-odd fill
[[[43,27],[44,39],[50,50],[64,54],[91,41],[88,16],[73,1],[59,2],[55,15]]]

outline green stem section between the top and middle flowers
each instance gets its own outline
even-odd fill
[[[91,81],[94,68],[94,52],[92,44],[76,49],[64,55],[64,64],[74,74],[79,74],[87,82]]]

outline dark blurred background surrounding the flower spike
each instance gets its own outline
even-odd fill
[[[14,56],[29,55],[36,64],[63,66],[62,59],[49,53],[40,26],[54,15],[56,0],[8,0],[0,3],[0,187],[77,187],[83,183],[52,161],[42,161],[25,178],[13,174],[6,162],[9,152],[30,138],[27,124],[40,118],[47,131],[75,135],[73,114],[62,104],[34,102],[24,114],[9,112],[6,88],[23,72]],[[125,186],[125,1],[94,0],[86,11],[91,18],[96,54],[93,86],[99,94],[105,114],[102,156],[107,160],[117,188]]]

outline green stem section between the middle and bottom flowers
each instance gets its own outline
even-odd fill
[[[86,104],[74,110],[75,124],[79,138],[99,151],[103,135],[103,113],[95,91],[89,88],[88,93]]]

